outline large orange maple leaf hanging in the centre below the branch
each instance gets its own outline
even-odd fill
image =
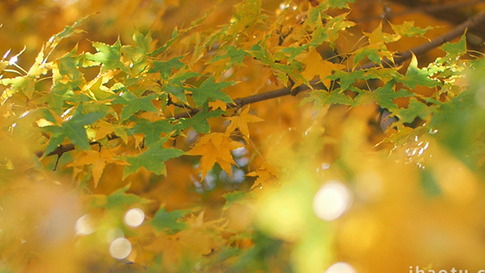
[[[231,164],[234,162],[231,150],[243,147],[243,143],[233,141],[227,134],[219,132],[206,134],[195,143],[195,146],[188,151],[189,155],[202,155],[197,170],[202,171],[202,179],[217,162],[226,173],[231,176]]]

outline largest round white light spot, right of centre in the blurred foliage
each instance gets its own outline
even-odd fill
[[[322,220],[335,220],[349,209],[351,193],[342,183],[330,181],[324,184],[313,198],[313,211]]]

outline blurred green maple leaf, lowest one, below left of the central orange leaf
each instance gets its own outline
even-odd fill
[[[190,209],[178,209],[168,212],[164,207],[161,207],[157,213],[155,213],[155,216],[153,216],[153,220],[150,224],[152,224],[155,231],[160,232],[168,229],[169,234],[175,234],[177,231],[186,228],[186,224],[181,221],[181,218],[191,212],[192,210]]]

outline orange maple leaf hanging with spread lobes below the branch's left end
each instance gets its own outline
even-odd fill
[[[67,167],[91,165],[94,188],[96,188],[107,164],[114,163],[118,165],[128,165],[126,161],[115,158],[116,154],[114,153],[114,150],[117,150],[118,148],[103,148],[100,152],[97,150],[83,151],[78,155],[78,157],[76,157],[76,160],[74,160],[71,164],[68,164]]]

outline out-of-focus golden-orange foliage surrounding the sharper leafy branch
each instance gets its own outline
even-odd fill
[[[78,52],[91,53],[94,41],[132,44],[136,30],[150,31],[160,46],[175,27],[186,28],[214,8],[173,49],[183,53],[182,46],[196,43],[195,33],[227,24],[239,2],[2,0],[0,53],[25,48],[17,64],[28,68],[52,35],[87,15],[84,31],[64,39],[53,59],[76,44]],[[285,5],[308,3],[265,0],[262,10],[276,16]],[[386,20],[434,26],[426,33],[432,38],[484,8],[483,1],[356,0],[347,17],[356,26],[341,33],[335,50],[355,51],[364,44],[362,32],[382,19],[387,32]],[[297,106],[299,95],[251,105],[264,121],[250,125],[249,142],[233,151],[239,168],[232,167],[232,177],[215,166],[200,181],[197,162],[180,157],[166,162],[166,177],[142,169],[123,179],[124,166],[107,163],[95,186],[90,168],[69,166],[74,152],[62,156],[56,171],[55,157],[34,156],[29,130],[35,121],[27,116],[14,132],[0,134],[0,272],[485,269],[485,62],[475,58],[484,52],[483,28],[468,30],[467,38],[466,67],[473,71],[461,73],[466,91],[412,125],[382,125],[374,104]],[[389,50],[426,41],[404,37]],[[319,53],[333,54],[325,47]],[[434,49],[420,56],[420,67],[443,55]],[[245,80],[227,89],[232,98],[274,89],[265,83],[276,77],[253,62],[234,72]],[[96,73],[87,69],[86,78]],[[429,87],[412,91],[436,98]],[[406,107],[409,100],[396,103]],[[11,106],[0,106],[2,127],[12,128],[19,116]],[[224,118],[209,124],[213,132],[227,127]],[[177,148],[188,150],[197,138],[186,136]]]

